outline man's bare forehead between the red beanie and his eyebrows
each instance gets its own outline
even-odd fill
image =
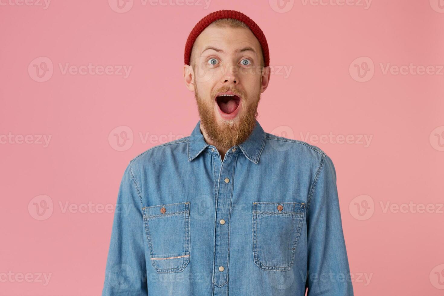
[[[248,28],[231,28],[208,26],[200,33],[194,42],[195,54],[200,55],[205,47],[216,47],[224,51],[234,51],[241,47],[250,46],[261,54],[261,44]]]

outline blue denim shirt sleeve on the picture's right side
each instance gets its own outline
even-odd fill
[[[324,154],[307,201],[307,296],[353,296],[336,170]]]

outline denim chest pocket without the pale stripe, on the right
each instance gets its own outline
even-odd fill
[[[253,203],[253,257],[263,270],[285,271],[293,266],[304,221],[305,203]]]

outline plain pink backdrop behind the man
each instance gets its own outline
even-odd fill
[[[202,0],[169,1],[130,1],[127,12],[115,0],[52,1],[47,9],[0,2],[0,295],[101,293],[114,215],[103,207],[115,203],[132,158],[189,135],[197,123],[182,78],[183,48],[194,24],[219,9],[258,23],[270,64],[281,68],[259,104],[264,130],[306,140],[333,159],[355,295],[443,295],[438,0],[374,0],[369,7],[298,0],[281,2],[284,8],[275,0],[212,0],[208,8]],[[127,78],[63,72],[66,64],[89,63],[131,71]],[[385,72],[411,63],[432,68]],[[38,78],[34,65],[49,71]],[[359,77],[357,67],[367,74]],[[115,128],[127,131],[127,146],[117,145]],[[349,141],[304,138],[330,133]],[[49,145],[39,135],[51,136]],[[364,135],[372,137],[367,144]],[[43,220],[33,206],[44,205],[40,195],[50,211]],[[65,211],[71,204],[91,208]],[[30,282],[20,280],[27,273]],[[51,274],[48,284],[38,273]]]

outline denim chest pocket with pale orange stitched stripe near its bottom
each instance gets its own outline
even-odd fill
[[[190,262],[190,202],[143,207],[151,264],[158,273],[182,272]]]

